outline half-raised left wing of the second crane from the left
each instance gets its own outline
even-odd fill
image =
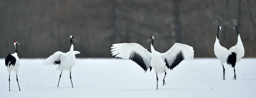
[[[43,62],[44,65],[53,65],[58,64],[58,61],[60,61],[60,58],[63,57],[66,53],[63,53],[61,51],[55,52],[50,57],[46,58],[46,60]],[[54,64],[54,65],[55,65]]]

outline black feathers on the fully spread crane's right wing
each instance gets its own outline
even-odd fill
[[[180,51],[179,54],[177,54],[174,62],[172,63],[172,65],[170,66],[168,63],[167,63],[167,60],[165,58],[165,63],[166,63],[166,66],[170,69],[170,70],[173,70],[174,67],[176,67],[182,60],[184,60],[184,56],[182,54],[182,52]]]

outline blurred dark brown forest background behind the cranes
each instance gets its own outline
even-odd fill
[[[70,49],[74,35],[77,57],[113,57],[114,43],[136,42],[150,51],[166,52],[175,42],[194,47],[194,57],[215,57],[213,45],[222,25],[220,44],[237,42],[238,30],[245,57],[256,57],[256,0],[0,0],[0,56],[48,57]]]

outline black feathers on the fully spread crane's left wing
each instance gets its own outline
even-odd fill
[[[138,53],[132,51],[129,59],[136,62],[145,72],[148,70],[143,58]]]

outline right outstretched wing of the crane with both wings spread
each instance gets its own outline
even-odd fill
[[[194,50],[189,45],[174,43],[171,49],[162,54],[162,57],[166,66],[173,70],[182,60],[192,60],[194,58]]]

